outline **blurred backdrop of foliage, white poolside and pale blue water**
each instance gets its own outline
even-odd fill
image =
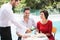
[[[10,0],[0,0],[0,7],[4,3],[8,3]],[[21,0],[17,7],[13,7],[16,19],[22,16],[25,7],[31,8],[31,15],[35,22],[39,20],[41,10],[47,10],[50,14],[49,19],[52,20],[53,26],[57,28],[56,40],[60,40],[60,0]],[[20,19],[19,19],[20,20]],[[17,40],[16,27],[12,25],[12,38]]]

